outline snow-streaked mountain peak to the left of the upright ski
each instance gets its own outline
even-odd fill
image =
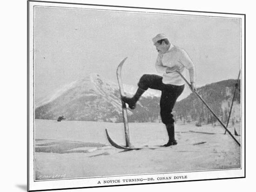
[[[69,83],[37,103],[36,118],[67,120],[120,121],[121,100],[118,85],[93,73]],[[132,112],[128,110],[128,115]]]

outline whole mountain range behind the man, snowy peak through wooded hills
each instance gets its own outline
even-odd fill
[[[205,85],[198,91],[217,115],[224,117],[223,114],[227,112],[232,99],[234,84],[235,80],[226,80]],[[124,87],[127,95],[135,93],[136,87],[130,85],[124,85]],[[146,91],[135,110],[128,109],[128,121],[161,122],[160,94],[161,92],[156,90]],[[236,110],[239,103],[240,95],[236,97]],[[62,87],[38,102],[36,106],[36,119],[56,120],[64,115],[66,120],[70,121],[123,121],[117,83],[110,82],[99,74],[90,74],[88,77]],[[177,102],[173,114],[177,120],[184,122],[198,119],[209,122],[211,118],[195,94],[190,94],[187,98]]]

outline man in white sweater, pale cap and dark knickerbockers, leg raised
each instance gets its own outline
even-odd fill
[[[122,100],[129,105],[130,109],[135,109],[135,104],[141,95],[150,89],[161,90],[160,114],[162,122],[165,124],[169,140],[163,145],[168,147],[176,145],[174,119],[172,109],[174,108],[177,98],[184,90],[184,81],[179,73],[184,75],[185,68],[189,70],[191,90],[196,90],[195,86],[195,66],[189,55],[183,49],[172,45],[165,34],[158,34],[153,39],[158,56],[155,63],[157,72],[162,73],[162,77],[158,75],[143,75],[138,83],[138,89],[133,97],[123,96]]]

